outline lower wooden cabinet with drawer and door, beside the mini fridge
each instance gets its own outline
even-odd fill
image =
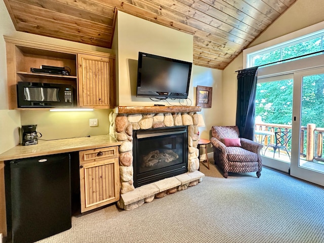
[[[119,200],[118,146],[79,151],[81,212]]]

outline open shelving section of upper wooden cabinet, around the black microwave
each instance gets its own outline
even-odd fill
[[[9,109],[17,106],[17,83],[57,83],[70,84],[76,91],[76,54],[61,52],[59,48],[44,45],[38,46],[32,42],[6,40],[8,99]],[[32,73],[30,68],[40,68],[41,65],[68,67],[70,75],[53,75]],[[74,100],[75,104],[76,98]]]

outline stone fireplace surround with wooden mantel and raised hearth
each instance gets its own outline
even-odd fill
[[[109,133],[118,141],[121,141],[119,147],[119,168],[121,197],[118,201],[118,207],[125,210],[133,209],[145,202],[149,202],[154,197],[165,195],[181,189],[186,189],[189,185],[196,185],[204,176],[198,172],[199,168],[199,150],[198,143],[198,114],[201,108],[197,106],[118,106],[109,115],[110,128]],[[156,183],[140,183],[138,188],[134,186],[134,167],[133,167],[133,135],[137,131],[143,130],[161,130],[167,131],[168,128],[185,128],[186,130],[186,153],[187,161],[185,171],[177,175],[167,175],[167,179],[157,181]],[[147,134],[147,133],[145,133]],[[171,148],[173,141],[170,141]],[[155,150],[152,150],[154,153]],[[173,151],[168,151],[167,155],[173,155]],[[149,154],[148,156],[150,156]],[[155,155],[154,155],[155,156]],[[177,155],[173,155],[177,156]],[[175,158],[173,158],[175,160]],[[169,158],[172,160],[172,158]],[[156,160],[150,160],[149,163],[156,163]],[[185,173],[188,171],[187,173]],[[180,174],[180,175],[179,175]],[[135,175],[136,176],[136,175]],[[170,178],[171,176],[171,178]],[[155,180],[156,181],[156,180]],[[171,184],[170,184],[171,183]],[[179,184],[180,183],[180,184]],[[160,184],[160,186],[159,186]],[[169,185],[170,184],[170,185]],[[167,186],[169,185],[169,186]],[[170,187],[170,188],[169,188]],[[165,190],[164,190],[165,189]],[[159,195],[159,193],[161,193]],[[131,198],[131,199],[130,199]],[[126,201],[128,200],[128,201]]]

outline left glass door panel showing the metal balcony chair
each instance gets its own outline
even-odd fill
[[[292,74],[260,78],[256,94],[255,140],[263,144],[262,164],[287,173],[291,163],[293,85]]]

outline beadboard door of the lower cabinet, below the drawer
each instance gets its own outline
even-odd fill
[[[119,200],[118,158],[80,165],[81,212]]]

